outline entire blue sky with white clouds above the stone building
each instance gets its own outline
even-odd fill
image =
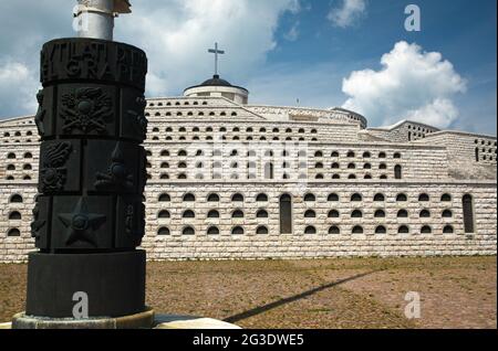
[[[75,3],[75,1],[74,1]],[[422,31],[407,32],[417,4]],[[403,118],[496,135],[496,0],[142,0],[115,38],[146,50],[148,96],[175,96],[212,74],[251,103],[342,106],[371,126]],[[33,114],[44,41],[73,36],[70,0],[0,2],[0,118]],[[50,19],[50,20],[48,20]],[[29,23],[27,25],[27,23]]]

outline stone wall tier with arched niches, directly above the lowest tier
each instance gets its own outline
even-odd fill
[[[145,147],[149,152],[152,180],[264,180],[268,179],[264,167],[269,163],[274,167],[273,179],[284,179],[284,176],[294,180],[394,179],[396,166],[402,167],[404,180],[448,178],[447,155],[443,147],[346,142],[294,145],[284,141],[153,141]],[[249,178],[249,174],[253,177]]]

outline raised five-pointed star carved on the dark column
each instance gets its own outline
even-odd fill
[[[97,247],[95,231],[105,223],[106,216],[89,213],[86,201],[81,198],[73,213],[61,213],[59,220],[68,228],[65,242],[68,246],[76,242],[86,242]]]

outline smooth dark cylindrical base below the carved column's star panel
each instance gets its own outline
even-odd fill
[[[28,316],[73,319],[84,294],[89,318],[118,318],[145,310],[145,252],[108,254],[31,253]]]

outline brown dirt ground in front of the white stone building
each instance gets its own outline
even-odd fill
[[[23,309],[25,265],[0,265],[0,321]],[[421,318],[405,317],[405,296]],[[496,257],[149,263],[156,311],[243,328],[497,328]]]

